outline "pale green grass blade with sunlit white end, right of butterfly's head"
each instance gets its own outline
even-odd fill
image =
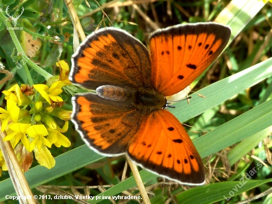
[[[205,96],[206,99],[200,98],[196,94],[192,94],[190,95],[192,97],[190,105],[184,105],[183,102],[175,103],[176,108],[172,108],[170,111],[181,122],[184,122],[225,102],[234,95],[254,86],[271,75],[272,58],[269,58],[266,61],[220,80],[197,92]]]

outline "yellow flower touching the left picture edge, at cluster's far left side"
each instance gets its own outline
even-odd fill
[[[7,126],[9,120],[17,122],[20,108],[16,105],[16,102],[12,100],[6,101],[6,109],[0,107],[0,119],[2,119],[1,131],[3,132]]]

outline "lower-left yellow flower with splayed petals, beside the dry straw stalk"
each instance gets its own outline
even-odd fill
[[[14,142],[12,144],[13,148],[18,144],[21,140],[25,148],[30,151],[30,142],[26,137],[26,130],[31,126],[31,124],[23,124],[23,123],[13,123],[9,125],[9,129],[13,132],[6,135],[4,141],[8,141],[14,138]]]

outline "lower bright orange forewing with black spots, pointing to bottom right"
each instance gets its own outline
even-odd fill
[[[141,123],[128,155],[139,165],[182,184],[205,182],[201,157],[180,121],[165,109],[152,112]]]

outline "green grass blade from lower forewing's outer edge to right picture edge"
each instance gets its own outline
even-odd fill
[[[201,157],[216,153],[272,125],[272,100],[262,103],[194,141]]]

